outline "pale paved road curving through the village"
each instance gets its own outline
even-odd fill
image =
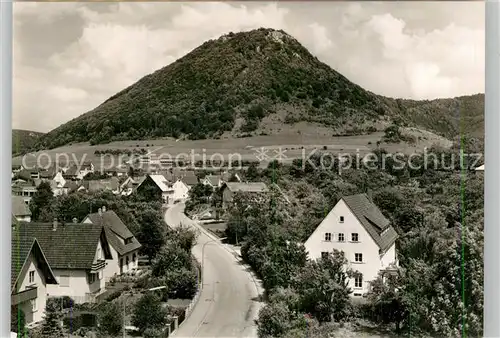
[[[204,249],[203,288],[191,315],[172,337],[257,337],[254,320],[262,303],[260,285],[238,254],[184,214],[179,203],[165,212],[165,222],[193,227],[198,233],[193,255],[201,262]]]

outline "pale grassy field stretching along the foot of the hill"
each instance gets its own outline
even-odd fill
[[[381,147],[390,152],[415,152],[421,151],[434,143],[446,142],[432,133],[416,131],[412,133],[426,133],[425,136],[414,145],[408,144],[381,144]],[[423,134],[424,135],[424,134]],[[12,159],[13,164],[24,164],[32,166],[47,165],[50,163],[82,163],[92,161],[97,167],[111,166],[120,163],[118,156],[95,155],[96,150],[123,149],[133,150],[144,148],[148,152],[161,158],[186,158],[188,160],[221,160],[226,161],[256,161],[265,165],[273,159],[290,161],[295,158],[307,157],[316,150],[327,150],[333,154],[356,153],[367,154],[377,147],[381,140],[382,132],[360,136],[326,136],[324,134],[287,134],[271,136],[253,136],[248,138],[232,138],[219,140],[141,140],[121,141],[104,145],[91,146],[88,143],[79,143],[56,149],[40,151],[33,154],[18,156]],[[128,158],[122,157],[121,163]]]

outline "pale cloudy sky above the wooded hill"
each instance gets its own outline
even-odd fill
[[[376,94],[484,92],[483,2],[15,2],[13,128],[48,132],[206,40],[260,27]]]

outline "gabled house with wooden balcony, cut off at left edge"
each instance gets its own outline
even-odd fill
[[[19,233],[16,226],[10,271],[11,311],[22,311],[26,326],[36,326],[44,318],[47,285],[57,286],[57,280],[39,242],[29,233]]]

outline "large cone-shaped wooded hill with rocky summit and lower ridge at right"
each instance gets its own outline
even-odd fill
[[[433,101],[376,95],[286,32],[261,28],[203,43],[43,135],[36,149],[263,135],[298,123],[326,127],[332,135],[361,135],[397,122],[448,138],[462,124],[462,131],[477,136],[484,131],[483,110],[483,94]]]

